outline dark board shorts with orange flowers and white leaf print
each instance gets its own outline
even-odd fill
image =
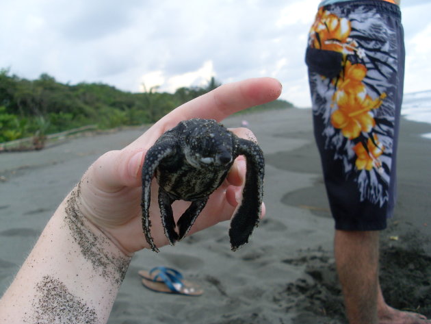
[[[397,5],[364,0],[319,8],[306,64],[336,229],[384,229],[393,214],[404,56]]]

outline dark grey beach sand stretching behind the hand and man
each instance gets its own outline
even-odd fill
[[[330,217],[311,110],[243,114],[265,153],[267,213],[250,243],[229,249],[228,223],[131,262],[110,316],[135,323],[345,323],[332,256]],[[382,232],[381,282],[395,307],[431,316],[431,125],[402,120],[398,202]],[[144,128],[75,138],[42,151],[0,154],[0,292],[7,288],[57,205],[99,155]],[[198,283],[201,297],[158,294],[138,270],[170,266]]]

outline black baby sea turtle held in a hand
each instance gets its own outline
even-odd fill
[[[242,203],[229,229],[233,251],[248,242],[259,223],[265,172],[260,147],[237,137],[213,119],[190,119],[162,134],[148,149],[142,166],[142,228],[153,251],[159,251],[150,231],[153,176],[159,184],[161,222],[166,237],[174,245],[189,232],[209,195],[222,184],[238,155],[245,155],[247,171]],[[192,202],[177,224],[171,207],[175,200]]]

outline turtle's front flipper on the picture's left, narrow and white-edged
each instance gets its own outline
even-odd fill
[[[159,142],[150,149],[145,155],[144,165],[142,166],[142,229],[144,231],[146,242],[151,249],[159,252],[155,246],[153,237],[151,236],[151,221],[150,221],[150,204],[151,204],[151,182],[157,166],[161,160],[167,158],[174,153],[170,142]]]

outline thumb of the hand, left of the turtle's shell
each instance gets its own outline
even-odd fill
[[[103,154],[90,166],[95,185],[106,192],[142,185],[141,168],[146,151],[122,149]]]

